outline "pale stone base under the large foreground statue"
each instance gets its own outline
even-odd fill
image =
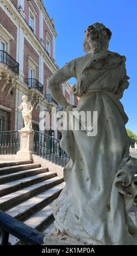
[[[57,230],[54,229],[44,237],[44,245],[89,245],[89,243],[83,242],[79,238],[57,233]]]

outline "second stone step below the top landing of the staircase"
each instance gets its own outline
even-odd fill
[[[44,168],[38,167],[38,168],[34,168],[34,169],[22,170],[21,172],[18,172],[18,173],[2,175],[2,176],[0,176],[0,184],[5,184],[10,181],[15,181],[18,179],[26,178],[26,177],[36,175],[39,173],[48,172],[48,170],[49,169],[45,168],[45,167]]]

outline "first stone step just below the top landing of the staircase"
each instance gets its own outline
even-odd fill
[[[20,164],[19,166],[3,167],[0,169],[0,176],[5,174],[20,172],[22,170],[34,169],[38,167],[41,167],[40,163],[29,163],[29,164]]]

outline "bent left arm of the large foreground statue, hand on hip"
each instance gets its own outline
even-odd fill
[[[72,62],[64,65],[62,69],[58,70],[49,80],[48,88],[53,98],[62,106],[66,107],[68,102],[63,95],[61,84],[74,77]]]

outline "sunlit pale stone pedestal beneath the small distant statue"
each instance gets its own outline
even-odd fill
[[[20,130],[21,145],[20,150],[17,152],[17,159],[19,160],[32,160],[32,152],[34,146],[34,131],[33,130]]]

